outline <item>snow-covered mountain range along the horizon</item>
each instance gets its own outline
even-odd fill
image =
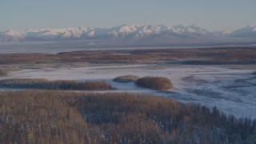
[[[210,32],[198,26],[163,26],[147,24],[126,24],[111,28],[74,27],[0,32],[0,42],[40,42],[72,40],[115,40],[115,41],[210,41],[222,38],[252,38],[256,40],[256,26],[240,30]]]

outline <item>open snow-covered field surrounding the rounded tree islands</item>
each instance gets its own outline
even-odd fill
[[[210,108],[217,106],[226,114],[234,114],[240,118],[256,118],[256,76],[251,74],[252,71],[253,69],[231,69],[226,66],[92,66],[19,70],[6,78],[106,80],[118,89],[115,92],[166,96],[179,102],[198,103]],[[160,92],[139,88],[133,82],[118,83],[112,80],[127,74],[170,78],[174,90]]]

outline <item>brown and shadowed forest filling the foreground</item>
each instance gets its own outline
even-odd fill
[[[138,94],[0,94],[0,143],[255,143],[256,121]]]

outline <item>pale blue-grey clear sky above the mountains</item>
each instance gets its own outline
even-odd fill
[[[236,30],[256,25],[256,0],[0,0],[0,31],[125,23]]]

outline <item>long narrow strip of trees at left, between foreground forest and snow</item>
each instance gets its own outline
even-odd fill
[[[38,89],[38,90],[113,90],[110,83],[78,82],[74,80],[50,81],[47,79],[14,78],[0,80],[0,86],[14,89]]]

